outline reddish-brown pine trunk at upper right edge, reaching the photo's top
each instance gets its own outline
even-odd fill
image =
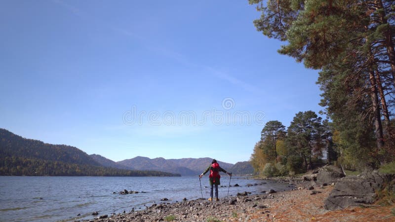
[[[384,11],[383,2],[381,0],[376,0],[376,7],[378,10],[378,15],[380,17],[381,24],[388,24],[386,19],[386,14]],[[391,29],[387,29],[385,33],[383,33],[383,35],[385,37],[385,42],[383,43],[383,45],[387,48],[388,58],[391,64],[392,82],[395,86],[395,49],[394,49],[394,42],[392,40]]]

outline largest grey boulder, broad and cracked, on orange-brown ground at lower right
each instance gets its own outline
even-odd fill
[[[353,205],[372,204],[377,200],[377,192],[388,184],[393,175],[380,174],[377,171],[361,176],[344,177],[324,201],[325,209],[341,210]]]

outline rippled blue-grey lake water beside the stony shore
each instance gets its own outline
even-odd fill
[[[247,184],[267,184],[250,186]],[[290,189],[288,184],[271,181],[246,180],[232,177],[229,195],[249,191],[277,191]],[[209,197],[208,177],[201,179],[203,197]],[[221,185],[229,185],[229,177],[221,178]],[[206,186],[206,187],[204,187]],[[136,190],[146,193],[120,195],[119,191]],[[117,192],[113,194],[113,192]],[[228,187],[219,188],[219,197],[226,197]],[[0,176],[1,222],[54,222],[92,219],[99,216],[145,209],[160,199],[182,201],[201,197],[198,177],[6,177]],[[80,214],[81,216],[77,216]],[[97,217],[97,216],[96,216]]]

